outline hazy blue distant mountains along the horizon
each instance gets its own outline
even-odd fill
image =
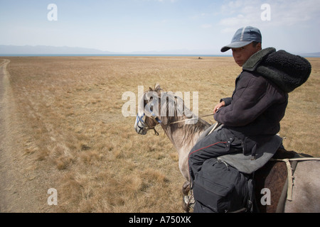
[[[209,50],[166,50],[166,51],[136,51],[110,52],[90,48],[53,47],[47,45],[0,45],[0,55],[215,55]],[[218,54],[223,55],[223,54]],[[304,57],[320,57],[320,52],[299,53]]]

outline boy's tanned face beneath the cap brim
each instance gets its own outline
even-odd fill
[[[247,62],[249,57],[251,57],[255,52],[261,50],[261,43],[258,43],[255,47],[253,47],[252,43],[250,43],[242,48],[232,48],[232,50],[235,63],[242,67],[242,65]]]

